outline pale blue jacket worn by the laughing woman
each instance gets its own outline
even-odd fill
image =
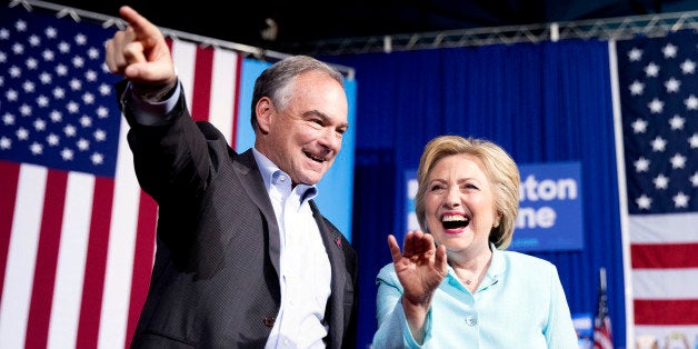
[[[373,348],[578,349],[556,267],[539,258],[492,246],[485,279],[471,293],[448,267],[427,315],[421,346],[402,310],[402,286],[392,263],[378,273],[378,330]]]

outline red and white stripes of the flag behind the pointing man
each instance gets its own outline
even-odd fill
[[[174,40],[192,114],[235,144],[242,58]],[[114,99],[116,106],[116,99]],[[0,348],[128,348],[154,257],[157,205],[121,122],[113,179],[0,161]]]

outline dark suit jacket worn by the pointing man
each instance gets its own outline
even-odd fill
[[[122,96],[124,83],[118,84]],[[133,348],[262,348],[280,307],[279,228],[251,150],[236,153],[183,96],[160,126],[131,129],[138,180],[159,206],[157,253]],[[357,255],[323,218],[331,265],[328,348],[355,348]]]

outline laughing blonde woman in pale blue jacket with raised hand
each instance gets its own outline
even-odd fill
[[[427,143],[416,196],[421,230],[408,231],[401,250],[388,237],[392,263],[377,277],[375,348],[577,348],[556,267],[506,251],[519,181],[511,157],[490,141]]]

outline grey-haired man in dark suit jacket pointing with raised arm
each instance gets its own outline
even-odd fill
[[[291,57],[258,78],[255,148],[189,114],[162,33],[129,7],[107,43],[138,180],[159,205],[134,348],[353,348],[357,256],[312,198],[347,130],[342,77]]]

